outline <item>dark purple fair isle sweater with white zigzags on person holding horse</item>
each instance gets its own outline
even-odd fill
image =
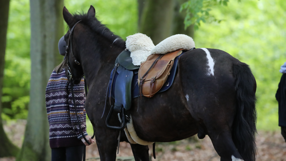
[[[74,85],[74,96],[81,129],[87,136],[84,79],[81,79],[80,84]],[[50,76],[46,88],[46,108],[50,124],[50,147],[83,145],[72,101],[71,87],[64,69],[59,73],[53,71]]]

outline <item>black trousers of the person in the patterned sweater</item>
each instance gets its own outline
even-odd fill
[[[52,148],[52,161],[82,161],[85,145]]]

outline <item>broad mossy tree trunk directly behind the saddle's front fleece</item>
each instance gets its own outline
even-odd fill
[[[154,45],[172,34],[174,0],[145,0],[139,32],[149,36]]]

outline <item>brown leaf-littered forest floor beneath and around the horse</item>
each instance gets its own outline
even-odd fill
[[[25,120],[12,121],[4,124],[4,130],[10,140],[21,147],[24,131]],[[286,161],[286,143],[277,131],[259,131],[257,135],[257,160],[258,161]],[[152,156],[152,146],[149,146],[149,154]],[[130,144],[120,143],[117,160],[132,161],[132,151]],[[96,143],[86,148],[87,161],[99,161],[99,153]],[[14,161],[15,158],[0,158],[0,161]],[[156,161],[219,161],[212,142],[208,136],[204,139],[198,139],[197,136],[174,141],[170,143],[156,143]],[[152,157],[152,161],[154,158]]]

